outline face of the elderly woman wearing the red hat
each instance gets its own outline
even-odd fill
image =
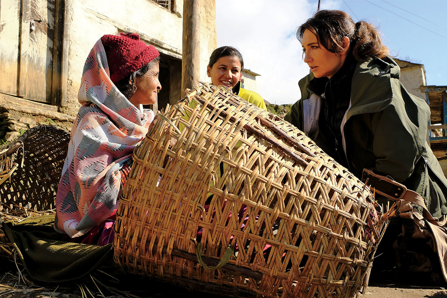
[[[135,77],[135,85],[137,90],[129,100],[134,106],[139,104],[154,104],[157,102],[157,93],[161,89],[158,74],[160,68],[154,65],[142,76]]]

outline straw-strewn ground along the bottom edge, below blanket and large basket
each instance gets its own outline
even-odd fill
[[[0,298],[220,298],[215,295],[186,291],[184,288],[122,274],[113,265],[103,266],[78,283],[52,285],[27,280],[25,270],[18,274],[16,264],[1,260]],[[447,298],[442,287],[398,285],[387,281],[370,281],[362,298]]]

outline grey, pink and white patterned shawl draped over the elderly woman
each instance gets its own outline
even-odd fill
[[[117,207],[120,169],[146,136],[153,112],[137,108],[109,77],[98,40],[85,61],[79,108],[56,197],[55,230],[78,237]]]

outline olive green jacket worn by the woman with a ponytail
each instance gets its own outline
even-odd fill
[[[351,82],[350,105],[340,127],[349,170],[357,177],[364,168],[389,176],[422,195],[434,217],[447,214],[447,179],[427,143],[430,108],[407,92],[399,81],[400,69],[391,59],[358,62]],[[319,94],[299,81],[301,100],[284,117],[319,147],[322,105]]]

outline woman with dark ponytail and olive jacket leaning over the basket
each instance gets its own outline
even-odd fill
[[[401,84],[377,29],[354,23],[345,11],[321,10],[298,27],[297,37],[311,73],[299,81],[301,99],[285,119],[357,177],[370,177],[384,195],[376,195],[379,203],[411,193],[419,198],[415,211],[443,223],[447,179],[426,141],[430,108]],[[413,220],[402,223],[411,237]]]

